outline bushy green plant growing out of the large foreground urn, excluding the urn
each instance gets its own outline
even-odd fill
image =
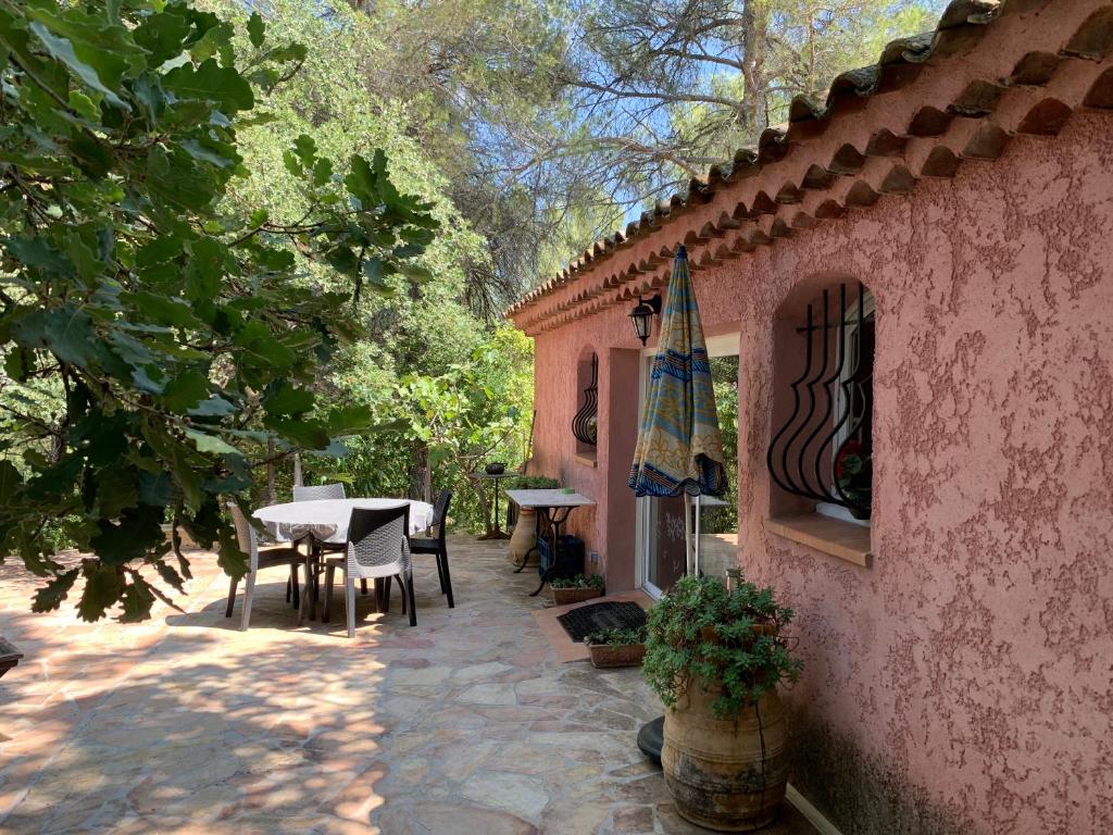
[[[711,709],[738,716],[804,667],[781,636],[792,610],[770,588],[733,591],[710,577],[682,577],[649,611],[642,676],[669,707],[689,687],[717,694]]]

